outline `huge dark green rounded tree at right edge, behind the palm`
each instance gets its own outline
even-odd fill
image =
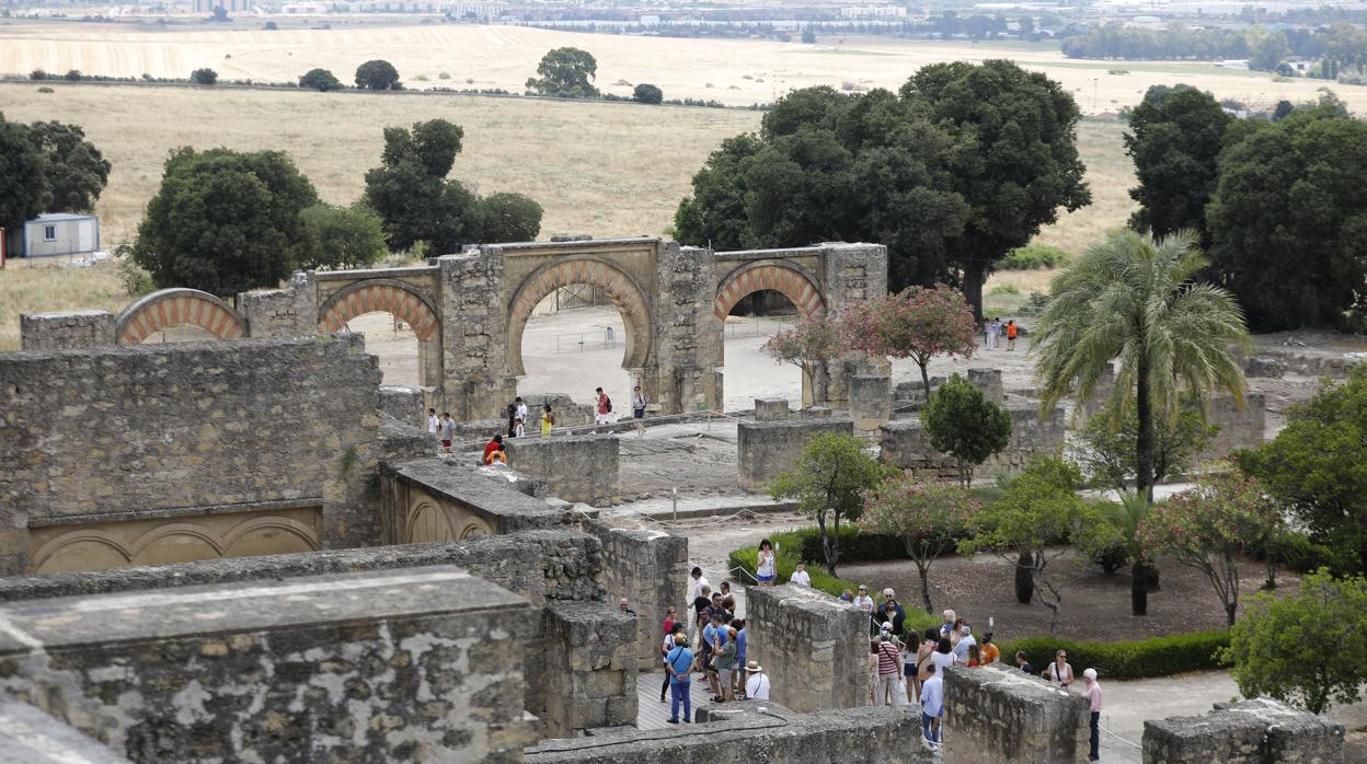
[[[1367,123],[1325,103],[1245,131],[1206,208],[1213,275],[1255,329],[1338,323],[1367,282]]]

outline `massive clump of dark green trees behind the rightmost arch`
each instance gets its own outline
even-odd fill
[[[980,312],[992,264],[1089,202],[1077,118],[1010,62],[932,64],[899,94],[794,90],[708,157],[675,230],[718,249],[880,242],[894,291],[961,283]]]

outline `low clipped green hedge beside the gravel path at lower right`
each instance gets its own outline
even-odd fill
[[[1068,651],[1068,663],[1081,678],[1083,671],[1095,668],[1103,678],[1144,679],[1148,677],[1170,677],[1188,671],[1208,671],[1226,666],[1219,659],[1219,651],[1229,646],[1229,631],[1193,631],[1189,634],[1169,634],[1147,640],[1121,642],[1074,642],[1054,637],[1025,637],[997,645],[1002,660],[1016,663],[1016,651],[1025,653],[1025,660],[1036,674],[1044,670],[1054,655]]]

